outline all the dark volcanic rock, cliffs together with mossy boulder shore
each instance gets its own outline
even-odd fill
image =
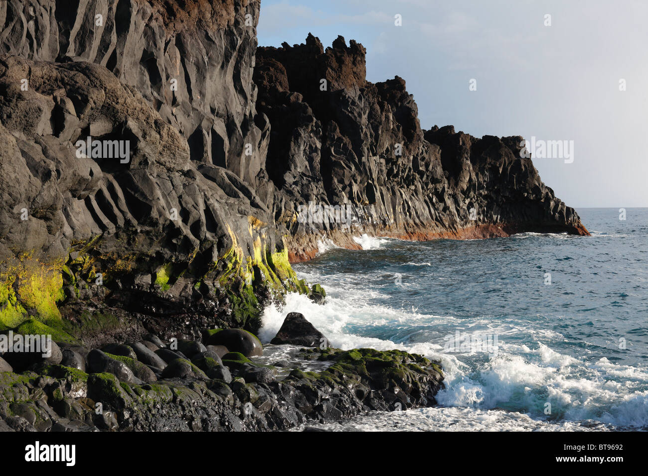
[[[259,8],[0,4],[0,332],[57,343],[0,357],[0,429],[286,429],[434,405],[436,363],[330,348],[301,315],[270,345],[290,358],[260,360],[265,302],[325,299],[290,263],[359,234],[588,234],[521,137],[423,130],[405,81],[367,82],[353,40],[257,48]],[[351,214],[304,220],[309,204]]]

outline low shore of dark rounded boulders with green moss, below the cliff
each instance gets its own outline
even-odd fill
[[[308,338],[288,327],[284,342]],[[0,431],[286,430],[434,405],[443,388],[438,363],[398,350],[271,345],[284,350],[271,365],[244,330],[205,342],[147,334],[103,350],[60,342],[47,358],[5,353],[16,368],[0,357]]]

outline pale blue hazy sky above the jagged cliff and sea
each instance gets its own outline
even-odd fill
[[[556,196],[648,207],[647,19],[643,0],[261,0],[257,34],[356,40],[367,80],[406,80],[422,128],[568,141],[561,157],[533,154]]]

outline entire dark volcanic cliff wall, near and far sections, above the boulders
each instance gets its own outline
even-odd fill
[[[271,289],[310,292],[288,258],[324,236],[586,234],[521,138],[424,131],[404,80],[365,80],[362,45],[257,49],[258,18],[244,0],[0,3],[0,329],[255,330]],[[303,220],[308,202],[351,227]]]

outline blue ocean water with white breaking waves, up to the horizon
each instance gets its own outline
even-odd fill
[[[327,289],[288,295],[260,337],[301,312],[332,345],[399,348],[441,361],[429,409],[371,413],[340,430],[648,429],[648,209],[578,210],[592,236],[524,233],[320,245],[295,271]],[[458,334],[457,334],[458,333]]]

